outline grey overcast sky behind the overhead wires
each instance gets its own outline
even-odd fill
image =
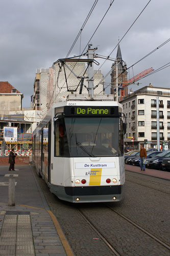
[[[110,0],[99,0],[81,36],[81,51],[107,11]],[[149,0],[115,0],[102,24],[91,39],[96,53],[108,56],[130,28]],[[30,106],[37,68],[52,67],[53,62],[65,58],[80,31],[94,0],[0,0],[0,80],[8,81],[23,93],[23,107]],[[120,42],[127,67],[170,38],[170,1],[151,0],[133,27]],[[170,42],[129,70],[133,77],[145,69],[154,70],[170,62]],[[117,49],[111,54],[116,57]],[[79,55],[80,39],[69,56]],[[97,59],[102,65],[103,59]],[[104,75],[112,61],[102,66]],[[95,67],[94,67],[95,68]],[[110,81],[110,77],[107,78]],[[170,88],[169,67],[140,80],[139,87]]]

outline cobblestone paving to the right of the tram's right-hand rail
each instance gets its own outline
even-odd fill
[[[134,178],[128,177],[124,191],[124,200],[115,205],[110,205],[114,207],[114,210],[127,216],[169,245],[170,182],[144,176],[143,179],[149,179],[149,181],[145,181],[143,186],[142,177],[139,174],[139,180],[137,181],[138,183],[141,182],[142,185],[133,183]],[[162,184],[161,187],[160,184]]]

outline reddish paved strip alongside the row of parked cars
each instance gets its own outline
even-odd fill
[[[163,170],[145,168],[145,171],[143,172],[143,170],[140,170],[139,166],[133,166],[130,164],[125,164],[125,170],[170,180],[170,172],[164,172]]]

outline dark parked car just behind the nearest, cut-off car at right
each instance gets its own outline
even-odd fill
[[[162,160],[165,157],[170,157],[170,151],[164,151],[158,154],[158,156],[147,159],[145,166],[147,168],[152,168],[152,169],[161,169],[162,168]]]

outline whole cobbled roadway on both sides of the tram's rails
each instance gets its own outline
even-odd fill
[[[133,174],[130,174],[133,176]],[[122,202],[105,204],[73,205],[60,201],[52,195],[44,182],[39,179],[45,197],[57,216],[66,237],[77,256],[114,255],[91,227],[79,215],[78,209],[100,230],[120,255],[169,255],[169,250],[150,238],[147,234],[118,216],[121,213],[155,237],[169,245],[169,195],[164,180],[135,173],[126,181]],[[153,179],[152,179],[153,178]],[[134,183],[136,179],[139,184]],[[141,182],[141,184],[140,184]],[[143,183],[144,182],[144,183]],[[158,184],[156,184],[157,182]],[[167,181],[166,181],[167,182]],[[146,186],[143,186],[143,185]],[[153,187],[152,187],[153,186]],[[153,189],[154,188],[154,189]],[[156,190],[159,188],[161,191]],[[117,213],[116,213],[117,212]],[[94,238],[98,238],[95,240]]]

